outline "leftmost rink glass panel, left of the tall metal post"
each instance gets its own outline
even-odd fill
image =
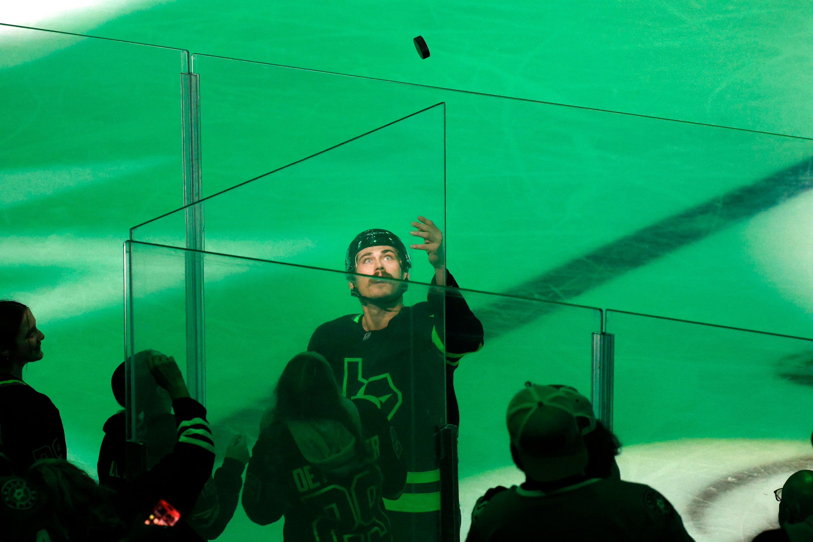
[[[67,457],[93,476],[102,426],[121,408],[110,384],[124,361],[121,242],[183,203],[185,61],[0,26],[2,297],[31,306],[45,330],[46,362],[24,379],[59,406]]]

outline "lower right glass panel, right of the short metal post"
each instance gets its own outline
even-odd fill
[[[698,541],[776,528],[773,490],[813,468],[813,340],[615,310],[606,331],[622,478],[663,492]]]

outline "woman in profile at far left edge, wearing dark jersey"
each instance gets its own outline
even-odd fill
[[[25,364],[42,359],[45,337],[27,306],[0,301],[0,453],[21,473],[37,459],[67,457],[59,410],[23,381]]]

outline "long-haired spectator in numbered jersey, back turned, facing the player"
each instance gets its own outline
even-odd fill
[[[243,508],[260,525],[285,515],[284,540],[393,540],[382,497],[406,484],[401,444],[375,403],[341,397],[327,360],[299,353],[276,385],[254,445]]]

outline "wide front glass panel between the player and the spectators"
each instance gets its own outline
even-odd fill
[[[130,244],[135,349],[166,349],[166,353],[176,349],[180,353],[184,349],[183,270],[187,251]],[[432,278],[433,269],[425,258],[414,260],[414,265],[415,280],[428,282]],[[135,280],[138,269],[150,280]],[[273,405],[277,379],[289,359],[307,349],[315,328],[361,310],[359,301],[350,297],[346,274],[341,272],[205,254],[204,274],[206,396],[215,436],[216,468],[223,462],[226,444],[237,433],[247,435],[250,446],[254,445],[260,419]],[[148,287],[151,289],[146,291]],[[145,291],[138,293],[139,288]],[[413,282],[405,304],[425,301],[433,288],[446,291],[447,296],[463,296],[485,330],[485,345],[479,351],[449,358],[459,363],[454,388],[461,413],[459,478],[465,519],[473,501],[485,491],[480,485],[490,480],[489,473],[513,470],[505,410],[526,381],[571,384],[589,396],[591,338],[601,329],[601,311]],[[365,371],[362,376],[367,379],[370,375]],[[433,371],[429,374],[431,371],[424,369],[414,375],[418,392],[433,382],[445,381],[442,362]],[[437,391],[442,394],[442,389]],[[384,399],[382,408],[388,394],[386,390],[368,393]],[[445,400],[445,396],[440,399]],[[444,418],[437,418],[437,425]],[[408,440],[426,438],[418,433],[399,437],[405,445]],[[423,444],[434,450],[435,436],[429,435]],[[425,480],[426,476],[407,480]],[[432,481],[408,483],[406,492],[435,492],[436,485]],[[465,529],[467,521],[463,523]],[[245,540],[246,536],[281,540],[281,525],[281,521],[266,527],[255,525],[238,506],[219,540]]]

